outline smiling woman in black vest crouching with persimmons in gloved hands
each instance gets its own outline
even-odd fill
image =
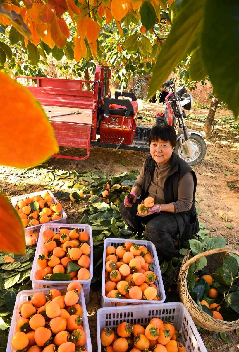
[[[141,222],[145,224],[147,238],[170,260],[178,257],[173,237],[179,235],[182,243],[199,231],[194,204],[197,178],[191,167],[173,152],[177,136],[172,126],[155,125],[149,142],[150,155],[130,196],[120,205],[120,214],[134,234],[141,235]],[[138,205],[148,196],[154,198],[155,205],[147,215],[139,215]]]

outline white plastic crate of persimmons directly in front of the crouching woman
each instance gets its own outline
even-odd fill
[[[106,248],[109,246],[114,246],[117,248],[118,246],[121,245],[121,243],[125,242],[130,242],[132,244],[137,243],[140,246],[145,246],[148,251],[150,251],[151,256],[153,258],[153,272],[157,275],[157,280],[154,282],[154,284],[158,288],[158,292],[161,292],[161,301],[148,301],[148,300],[128,300],[124,298],[108,298],[105,295],[105,252]],[[121,296],[123,297],[123,296]],[[109,306],[118,306],[123,303],[140,303],[140,304],[149,304],[149,303],[162,303],[165,301],[165,291],[164,291],[164,284],[162,282],[162,275],[159,267],[159,260],[156,252],[156,247],[155,245],[147,240],[130,240],[130,239],[120,239],[117,240],[116,238],[106,238],[104,241],[104,254],[103,254],[103,272],[102,272],[102,295],[101,295],[101,307],[109,307]],[[121,304],[119,304],[121,303]]]

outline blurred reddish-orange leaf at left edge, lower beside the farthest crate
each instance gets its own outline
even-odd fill
[[[2,130],[5,131],[4,128]],[[18,213],[2,193],[0,193],[0,224],[0,251],[24,254],[26,247],[24,227]]]

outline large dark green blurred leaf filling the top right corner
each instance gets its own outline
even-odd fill
[[[223,100],[237,117],[239,61],[235,43],[239,40],[239,2],[234,0],[230,5],[224,5],[223,0],[205,2],[201,34],[202,57],[213,92],[217,93],[220,100]],[[230,26],[225,28],[225,23],[230,23]]]

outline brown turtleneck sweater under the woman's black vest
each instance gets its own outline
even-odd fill
[[[164,200],[164,182],[170,169],[170,160],[165,164],[155,164],[154,174],[148,187],[148,195],[153,197],[155,203],[165,204]],[[142,189],[144,180],[144,165],[140,171],[138,179],[134,186]],[[133,186],[133,187],[134,187]],[[192,172],[187,172],[184,177],[178,182],[178,200],[173,202],[174,213],[186,212],[191,209],[193,202],[193,175]]]

